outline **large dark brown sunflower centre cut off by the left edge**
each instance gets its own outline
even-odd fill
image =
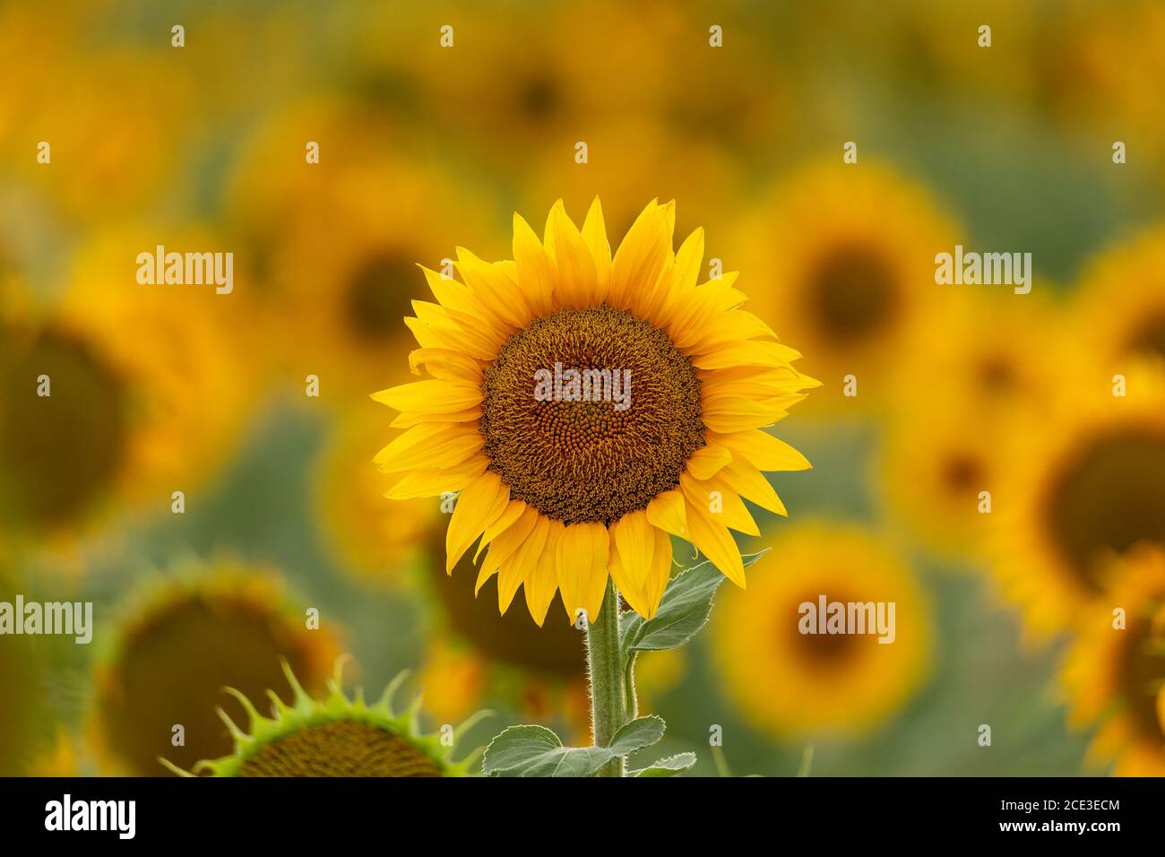
[[[125,457],[123,393],[79,339],[0,331],[0,520],[51,527],[90,507]]]

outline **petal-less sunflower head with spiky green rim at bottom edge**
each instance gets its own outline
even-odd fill
[[[421,735],[417,711],[421,700],[403,712],[394,711],[393,697],[408,673],[401,673],[374,705],[356,690],[354,698],[341,689],[345,658],[336,662],[329,694],[315,698],[303,689],[283,661],[283,674],[294,690],[289,705],[268,690],[271,716],[264,717],[242,693],[231,693],[247,712],[247,730],[219,709],[234,737],[234,752],[205,759],[195,773],[212,777],[464,777],[474,756],[459,763],[450,754],[457,737],[480,719],[475,715],[444,733]],[[483,714],[483,712],[482,712]],[[174,773],[191,775],[165,759]]]

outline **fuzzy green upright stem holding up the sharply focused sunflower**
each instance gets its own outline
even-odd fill
[[[587,666],[591,674],[591,728],[594,745],[610,744],[628,716],[627,684],[619,653],[619,592],[610,579],[602,597],[602,609],[586,632]],[[622,777],[623,760],[613,759],[596,777]]]

